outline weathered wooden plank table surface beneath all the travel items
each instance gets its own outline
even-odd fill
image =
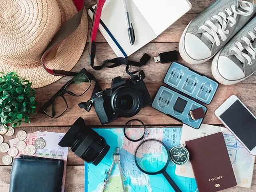
[[[180,20],[174,23],[170,28],[168,28],[163,34],[161,34],[158,38],[153,40],[151,43],[146,45],[141,50],[134,53],[130,56],[130,60],[139,60],[144,53],[148,53],[152,56],[150,62],[143,66],[142,70],[146,73],[146,86],[150,92],[152,98],[158,91],[159,87],[163,85],[163,79],[168,70],[170,64],[160,64],[155,63],[153,57],[158,56],[161,52],[166,52],[170,50],[178,50],[178,42],[180,41],[180,37],[182,35],[183,30],[185,29],[186,25],[192,20],[198,13],[202,12],[205,8],[207,8],[214,0],[190,0],[192,3],[192,9],[189,13],[185,14]],[[178,1],[177,1],[178,3]],[[96,4],[96,0],[86,0],[86,8],[90,8]],[[91,26],[91,20],[89,22],[89,29]],[[88,32],[90,34],[90,30]],[[101,64],[104,60],[114,58],[116,55],[114,54],[113,50],[110,48],[106,40],[103,36],[98,32],[97,40],[97,53],[96,53],[96,64]],[[186,64],[181,58],[179,62],[182,64]],[[211,62],[212,60],[206,62],[205,64],[201,65],[189,65],[190,68],[196,70],[204,75],[212,77],[211,73]],[[74,72],[80,71],[83,67],[86,68],[89,72],[92,72],[96,78],[99,80],[102,88],[109,88],[111,79],[116,76],[127,77],[125,72],[125,66],[119,66],[117,68],[108,69],[104,68],[104,70],[94,71],[88,65],[89,58],[88,58],[88,44],[86,44],[84,53],[80,58],[79,62],[76,66],[72,69]],[[131,70],[136,70],[136,67],[132,67]],[[36,89],[36,100],[38,101],[38,108],[46,102],[51,96],[53,96],[56,91],[58,91],[67,81],[69,78],[62,78],[57,82],[50,84],[48,86]],[[214,124],[220,125],[221,123],[219,120],[214,116],[214,110],[222,104],[230,95],[235,94],[237,95],[243,102],[248,106],[248,108],[252,111],[252,113],[256,114],[256,75],[252,75],[247,80],[243,82],[232,85],[232,86],[222,86],[214,97],[212,104],[208,105],[208,113],[206,118],[204,119],[204,123],[206,124]],[[81,97],[72,97],[72,96],[65,96],[68,102],[68,110],[67,112],[57,119],[49,118],[46,115],[37,114],[31,119],[31,124],[22,124],[22,128],[16,128],[16,132],[18,130],[26,130],[26,132],[35,132],[35,131],[44,131],[47,130],[55,131],[55,132],[66,132],[70,125],[74,123],[74,121],[81,116],[85,119],[86,124],[100,126],[100,121],[96,116],[94,109],[91,110],[90,113],[82,110],[78,107],[79,102],[87,101],[90,98],[92,87],[89,90],[89,93],[84,94]],[[161,114],[157,110],[154,110],[151,106],[148,106],[141,110],[141,112],[135,116],[142,120],[147,125],[168,125],[168,126],[181,126],[181,123],[167,117],[164,114]],[[127,121],[125,118],[119,118],[118,120],[111,122],[109,126],[113,125],[124,125]],[[10,137],[14,138],[14,136]],[[8,142],[8,139],[5,136],[5,142]],[[0,159],[2,159],[3,154],[0,154]],[[2,161],[0,160],[0,191],[1,192],[8,192],[9,184],[10,184],[10,171],[11,166],[4,166]],[[240,188],[234,187],[228,190],[224,190],[225,192],[244,192],[244,191],[256,191],[256,171],[254,172],[254,179],[253,185],[251,188]],[[66,184],[65,184],[65,191],[66,192],[83,192],[84,191],[84,162],[76,157],[72,152],[69,152],[68,155],[68,168],[66,174]]]

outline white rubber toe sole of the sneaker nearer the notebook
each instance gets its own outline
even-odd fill
[[[192,21],[190,21],[191,23]],[[190,23],[188,24],[188,26],[190,25]],[[184,48],[184,40],[185,40],[185,34],[188,30],[188,26],[186,26],[184,32],[182,33],[182,36],[180,38],[180,43],[179,43],[179,52],[180,52],[180,56],[182,57],[182,59],[187,62],[188,64],[202,64],[208,60],[210,60],[211,58],[214,57],[211,56],[210,58],[207,58],[207,59],[204,59],[204,60],[194,60],[192,59],[190,56],[188,56],[188,54],[186,53],[185,51],[185,48]]]

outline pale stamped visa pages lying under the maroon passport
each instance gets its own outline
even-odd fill
[[[200,129],[194,129],[183,124],[180,144],[185,144],[185,141],[187,140],[217,132],[223,133],[230,162],[236,177],[237,186],[250,188],[252,186],[255,156],[252,156],[227,128],[202,124]],[[194,178],[190,161],[184,165],[177,165],[175,174],[178,176]]]

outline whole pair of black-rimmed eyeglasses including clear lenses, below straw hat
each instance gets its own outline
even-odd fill
[[[79,97],[91,86],[90,76],[93,76],[83,68],[72,80],[69,80],[42,108],[41,114],[51,118],[58,118],[68,109],[68,103],[64,95],[70,94]],[[94,77],[94,76],[93,76]]]

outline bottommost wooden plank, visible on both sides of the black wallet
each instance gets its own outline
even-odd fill
[[[11,166],[0,166],[0,188],[1,192],[8,192],[10,186]],[[66,172],[65,192],[84,191],[84,166],[68,166]],[[251,188],[232,187],[221,192],[255,192],[256,191],[256,167]]]

